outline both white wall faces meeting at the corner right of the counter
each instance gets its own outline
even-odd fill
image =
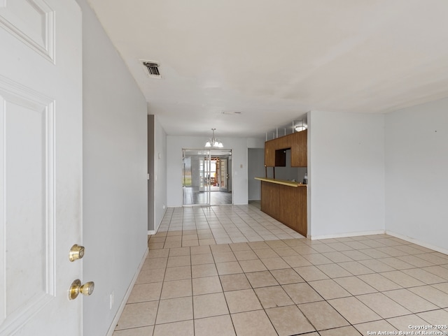
[[[309,112],[311,237],[386,231],[448,253],[447,110]]]

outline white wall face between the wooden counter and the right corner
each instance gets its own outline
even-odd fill
[[[309,113],[312,239],[384,232],[384,115]]]

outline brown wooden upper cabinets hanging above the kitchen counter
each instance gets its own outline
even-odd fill
[[[307,134],[308,131],[305,129],[304,131],[288,134],[288,136],[266,141],[265,166],[286,166],[284,149],[290,149],[291,167],[306,167],[308,163]]]

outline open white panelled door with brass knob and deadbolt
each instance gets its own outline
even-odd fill
[[[81,38],[74,0],[0,0],[0,335],[82,335]]]

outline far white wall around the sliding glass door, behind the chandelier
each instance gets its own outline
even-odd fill
[[[167,136],[167,202],[169,207],[182,206],[182,149],[204,149],[207,138]],[[233,204],[247,204],[247,139],[221,138],[224,149],[232,149]]]

